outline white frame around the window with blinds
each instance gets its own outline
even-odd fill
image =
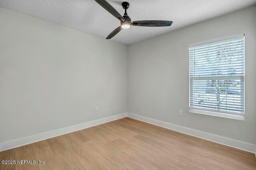
[[[218,43],[221,41],[227,41],[227,40],[232,40],[236,38],[244,38],[244,114],[235,114],[235,113],[230,113],[228,111],[217,111],[213,109],[195,109],[195,108],[190,108],[190,48],[201,46],[201,45],[208,45],[211,43]],[[190,113],[198,113],[198,114],[203,114],[203,115],[211,115],[211,116],[217,116],[217,117],[225,117],[225,118],[230,118],[230,119],[238,119],[238,120],[245,120],[245,34],[239,34],[239,35],[233,35],[229,37],[223,37],[223,38],[218,38],[218,39],[213,39],[210,41],[204,41],[201,43],[195,43],[192,45],[188,46],[188,57],[189,57],[189,71],[188,71],[188,103],[189,103],[189,112]]]

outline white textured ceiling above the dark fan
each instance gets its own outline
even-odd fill
[[[123,15],[122,0],[107,0]],[[127,0],[132,21],[171,20],[171,27],[122,29],[116,41],[132,44],[256,4],[256,0]],[[94,0],[0,0],[0,7],[106,38],[120,21]]]

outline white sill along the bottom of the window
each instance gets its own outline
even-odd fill
[[[200,110],[200,109],[189,109],[190,113],[198,113],[203,115],[211,115],[211,116],[218,116],[218,117],[226,117],[230,119],[238,119],[238,120],[244,120],[244,115],[235,115],[230,113],[221,113],[216,111],[206,111],[206,110]]]

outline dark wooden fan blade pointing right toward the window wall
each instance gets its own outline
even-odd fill
[[[132,25],[143,26],[143,27],[167,27],[172,25],[172,21],[161,21],[161,20],[133,21]]]

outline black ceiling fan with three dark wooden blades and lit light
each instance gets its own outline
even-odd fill
[[[113,8],[106,0],[95,0],[100,6],[107,10],[110,14],[121,21],[121,25],[117,27],[106,39],[111,39],[114,37],[121,29],[128,29],[133,26],[143,26],[143,27],[166,27],[171,26],[172,21],[162,21],[162,20],[146,20],[146,21],[133,21],[127,15],[126,10],[129,8],[130,4],[128,2],[122,2],[122,6],[125,10],[124,16],[121,16],[115,8]]]

